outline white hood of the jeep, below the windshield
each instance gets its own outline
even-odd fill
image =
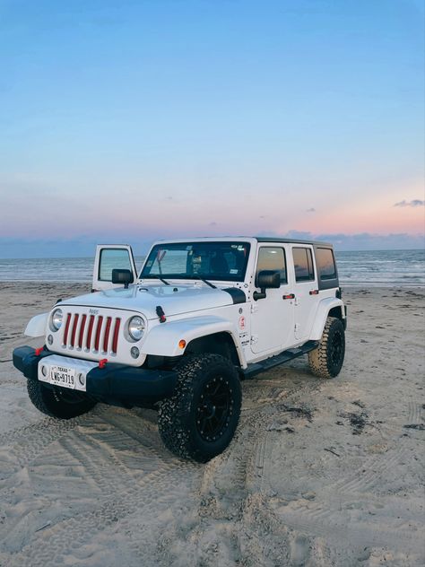
[[[238,288],[226,288],[238,290]],[[212,289],[205,284],[152,285],[135,284],[128,289],[113,288],[111,290],[87,293],[60,303],[81,305],[93,308],[109,308],[117,310],[134,310],[148,319],[158,318],[157,306],[164,310],[165,316],[179,315],[190,311],[215,309],[232,305],[235,301],[233,294],[221,288]],[[239,302],[239,301],[238,301]]]

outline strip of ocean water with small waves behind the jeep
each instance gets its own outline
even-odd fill
[[[340,283],[425,287],[425,250],[336,252]],[[143,257],[136,257],[141,268]],[[0,281],[91,282],[92,257],[1,259]]]

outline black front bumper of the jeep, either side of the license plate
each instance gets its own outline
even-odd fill
[[[26,378],[39,379],[39,361],[52,355],[57,356],[48,350],[41,351],[37,356],[32,347],[20,346],[13,350],[13,366]],[[81,361],[74,361],[78,368]],[[135,368],[108,362],[104,368],[96,366],[87,372],[86,393],[107,404],[145,406],[171,396],[176,382],[175,371]],[[45,385],[50,387],[48,383]]]

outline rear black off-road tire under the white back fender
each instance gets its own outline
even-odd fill
[[[319,378],[334,378],[343,367],[345,332],[343,321],[328,317],[320,343],[308,353],[310,371]]]

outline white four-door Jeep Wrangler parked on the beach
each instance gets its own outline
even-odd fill
[[[57,301],[13,351],[41,412],[69,419],[97,402],[159,409],[176,455],[206,462],[230,443],[240,380],[308,353],[343,366],[346,308],[330,244],[276,238],[160,241],[137,275],[129,246],[98,246],[92,292]]]

